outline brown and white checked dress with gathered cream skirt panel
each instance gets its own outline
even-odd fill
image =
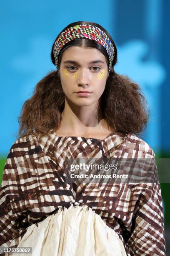
[[[32,241],[35,251],[45,250],[42,244],[46,240],[49,255],[49,243],[58,250],[53,255],[125,255],[124,249],[128,256],[165,255],[159,182],[95,187],[68,184],[61,166],[70,157],[155,161],[152,148],[133,134],[111,133],[100,140],[58,137],[56,133],[40,138],[32,133],[18,139],[10,148],[2,176],[0,246],[25,246]],[[80,243],[85,250],[82,254]],[[116,254],[119,250],[121,254]]]

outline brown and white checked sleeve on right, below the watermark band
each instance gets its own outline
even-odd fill
[[[166,255],[163,203],[155,155],[151,168],[156,182],[140,184],[142,185],[141,194],[126,243],[131,255],[135,256]]]

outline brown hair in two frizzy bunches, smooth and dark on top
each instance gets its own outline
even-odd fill
[[[105,118],[107,125],[114,131],[123,134],[139,134],[143,132],[149,117],[147,102],[138,84],[131,81],[129,77],[117,74],[114,71],[114,66],[117,63],[117,49],[110,34],[99,24],[88,21],[71,23],[62,31],[80,24],[91,24],[102,29],[110,38],[115,48],[112,69],[101,96],[103,118]],[[52,45],[51,60],[55,65],[53,46],[54,44]],[[98,49],[105,55],[108,66],[109,56],[103,46],[87,38],[76,38],[62,47],[59,54],[59,68],[63,52],[71,46]],[[18,118],[20,124],[18,136],[29,135],[33,130],[35,133],[43,136],[57,130],[60,126],[64,104],[65,94],[62,91],[59,73],[56,70],[40,80],[35,87],[32,97],[25,101]]]

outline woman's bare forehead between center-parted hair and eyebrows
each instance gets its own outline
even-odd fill
[[[100,59],[106,63],[105,55],[99,50],[89,47],[71,46],[62,54],[62,62],[71,59],[75,61],[94,61]]]

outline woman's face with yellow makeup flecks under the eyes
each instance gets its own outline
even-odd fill
[[[80,46],[64,51],[59,73],[65,97],[78,106],[97,102],[108,77],[105,56],[97,49]]]

